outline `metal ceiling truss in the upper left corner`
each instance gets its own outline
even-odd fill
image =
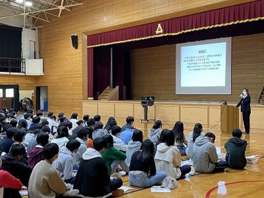
[[[70,11],[70,8],[77,5],[82,5],[82,2],[76,0],[28,0],[32,2],[32,6],[26,6],[26,0],[22,3],[16,0],[0,0],[0,8],[12,11],[13,14],[4,16],[0,12],[0,20],[6,18],[14,18],[23,16],[23,27],[34,28],[38,20],[50,22],[48,15],[60,17],[63,10]],[[55,12],[54,12],[55,11]],[[57,14],[57,11],[58,14]],[[34,22],[30,22],[34,19]],[[20,21],[15,19],[16,21]],[[21,22],[21,21],[20,21]]]

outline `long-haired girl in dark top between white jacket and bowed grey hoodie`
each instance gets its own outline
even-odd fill
[[[181,121],[177,121],[172,132],[174,133],[176,147],[178,148],[180,155],[186,155],[187,141],[183,133],[183,123]]]

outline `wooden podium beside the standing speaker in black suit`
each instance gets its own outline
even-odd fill
[[[239,128],[239,109],[236,106],[221,105],[221,132],[232,133]]]

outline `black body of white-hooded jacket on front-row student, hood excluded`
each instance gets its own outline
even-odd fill
[[[73,185],[74,189],[78,189],[84,196],[102,197],[111,193],[109,183],[110,176],[102,157],[81,159]]]

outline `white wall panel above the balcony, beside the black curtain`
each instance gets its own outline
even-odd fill
[[[23,31],[22,31],[22,50],[23,50],[22,58],[23,59],[32,59],[32,54],[34,54],[34,47],[32,47],[32,42],[36,42],[35,30],[23,28]]]

